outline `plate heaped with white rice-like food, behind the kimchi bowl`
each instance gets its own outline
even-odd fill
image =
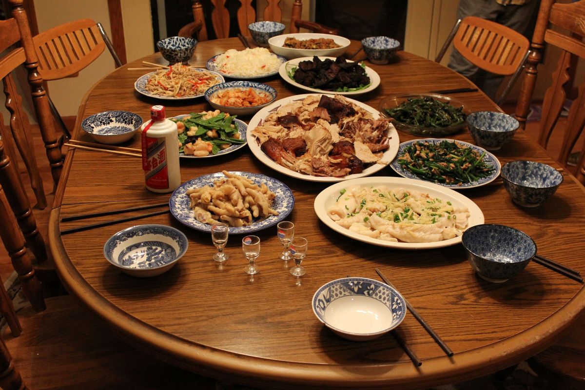
[[[225,77],[250,80],[277,74],[280,65],[286,61],[283,56],[270,53],[264,47],[254,47],[244,50],[230,49],[209,58],[206,67]]]

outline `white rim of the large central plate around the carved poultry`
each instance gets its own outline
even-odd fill
[[[364,169],[363,172],[359,173],[359,174],[351,174],[351,175],[346,175],[346,176],[342,176],[342,177],[311,176],[311,175],[307,175],[304,173],[295,172],[295,171],[290,170],[286,167],[283,167],[282,165],[277,164],[276,161],[272,160],[270,157],[266,156],[266,154],[260,149],[260,145],[256,141],[256,136],[254,136],[252,134],[252,130],[256,129],[256,127],[259,125],[259,123],[261,121],[263,121],[264,118],[266,118],[266,116],[268,116],[271,111],[274,111],[278,107],[285,105],[285,104],[288,104],[288,103],[291,103],[293,101],[302,100],[309,95],[333,96],[331,94],[303,94],[303,95],[288,96],[288,98],[280,99],[276,102],[273,102],[271,105],[264,107],[259,112],[257,112],[256,115],[254,115],[252,117],[252,119],[250,119],[250,122],[248,123],[249,131],[246,132],[246,140],[247,140],[248,146],[250,147],[250,150],[252,151],[254,156],[256,156],[256,158],[258,158],[258,160],[260,160],[264,165],[267,165],[267,167],[270,167],[275,171],[281,172],[282,174],[285,174],[285,175],[288,175],[290,177],[294,177],[297,179],[301,179],[301,180],[318,181],[318,182],[337,182],[337,181],[344,181],[344,180],[369,176],[369,175],[373,174],[374,172],[380,171],[381,169],[385,168],[386,164],[389,164],[394,159],[394,157],[398,153],[398,146],[400,146],[400,140],[398,139],[398,132],[394,128],[394,125],[392,125],[391,123],[388,126],[388,137],[390,137],[390,147],[388,147],[388,149],[384,152],[383,157],[381,158],[381,161],[380,161],[380,162],[384,162],[386,164],[373,164],[370,167]],[[371,112],[373,114],[374,118],[380,118],[382,116],[382,114],[379,111],[377,111],[374,108],[371,108],[369,105],[366,105],[362,102],[358,102],[356,100],[349,99],[349,98],[347,98],[347,100],[354,103],[357,106],[360,106],[364,110]]]

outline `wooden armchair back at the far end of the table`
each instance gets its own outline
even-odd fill
[[[216,38],[227,38],[229,36],[229,11],[225,6],[226,0],[211,0],[214,9],[211,11],[211,22],[215,32]],[[262,20],[273,20],[274,22],[282,22],[283,11],[278,5],[280,0],[267,0],[266,8],[264,9]],[[192,0],[192,11],[194,22],[189,23],[179,30],[178,35],[183,37],[191,37],[197,33],[197,39],[200,41],[208,40],[207,26],[205,26],[204,9],[201,1]],[[322,26],[319,23],[310,22],[309,20],[301,20],[302,0],[294,0],[292,4],[290,17],[290,32],[298,33],[300,28],[311,30],[316,33],[338,34],[339,30],[330,27]],[[238,28],[240,33],[247,35],[248,25],[256,22],[256,10],[252,6],[252,0],[240,0],[240,8],[238,9]]]

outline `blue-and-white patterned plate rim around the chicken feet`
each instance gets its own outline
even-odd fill
[[[294,195],[286,184],[271,177],[250,172],[231,171],[233,174],[240,175],[252,180],[255,184],[266,184],[270,191],[276,194],[272,208],[278,212],[278,215],[272,215],[263,220],[257,220],[250,226],[230,227],[230,234],[248,234],[256,232],[257,230],[266,229],[267,227],[276,225],[281,220],[287,218],[294,207]],[[177,188],[168,201],[168,206],[171,214],[184,225],[192,227],[193,229],[201,230],[201,232],[211,232],[211,225],[201,223],[195,219],[193,210],[191,209],[191,199],[186,194],[189,189],[200,188],[205,185],[214,187],[214,181],[225,177],[222,172],[212,173],[200,176],[196,179],[184,182]]]

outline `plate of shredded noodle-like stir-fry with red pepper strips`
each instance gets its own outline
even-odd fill
[[[143,75],[136,80],[134,88],[150,98],[184,100],[199,98],[209,87],[224,81],[214,71],[179,64]]]

